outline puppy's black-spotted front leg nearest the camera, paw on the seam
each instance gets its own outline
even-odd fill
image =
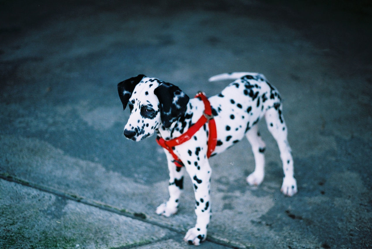
[[[183,238],[190,245],[198,246],[207,236],[207,227],[211,219],[211,205],[209,200],[209,189],[211,180],[211,167],[208,159],[195,161],[186,165],[186,171],[190,175],[195,193],[195,227],[190,228]]]

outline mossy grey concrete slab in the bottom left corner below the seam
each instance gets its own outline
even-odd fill
[[[0,179],[1,248],[119,248],[175,233]]]

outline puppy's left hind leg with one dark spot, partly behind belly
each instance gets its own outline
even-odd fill
[[[252,152],[254,155],[254,162],[256,164],[253,173],[248,175],[247,182],[249,185],[260,185],[264,178],[264,165],[265,157],[264,151],[266,148],[265,143],[263,142],[260,133],[258,132],[258,126],[254,125],[246,133],[246,137],[251,144]]]

